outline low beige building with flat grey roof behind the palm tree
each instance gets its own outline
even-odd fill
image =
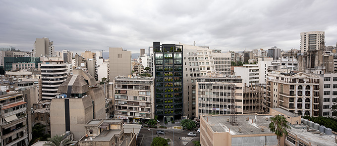
[[[237,115],[238,125],[229,123],[230,115],[202,115],[200,144],[201,146],[278,146],[276,135],[268,129],[270,118],[281,114],[286,117],[291,126],[298,126],[301,124],[301,117],[281,108],[271,108],[270,111],[270,114],[239,114]],[[285,145],[284,137],[281,138],[280,144],[295,146]]]

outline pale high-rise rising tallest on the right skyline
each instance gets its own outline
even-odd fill
[[[319,50],[325,48],[324,31],[311,31],[301,33],[301,53],[309,50]]]

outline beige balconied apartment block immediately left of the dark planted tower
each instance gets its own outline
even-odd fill
[[[113,86],[115,118],[124,119],[127,123],[154,118],[154,78],[116,77]]]

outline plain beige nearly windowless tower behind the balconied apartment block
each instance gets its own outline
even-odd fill
[[[116,76],[131,75],[131,51],[122,48],[109,48],[110,82]]]

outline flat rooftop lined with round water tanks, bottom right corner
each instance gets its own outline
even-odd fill
[[[320,136],[320,134],[313,134],[306,130],[306,125],[295,125],[291,126],[288,132],[291,135],[296,135],[297,138],[302,139],[304,142],[311,143],[311,146],[337,146],[335,143],[335,135]]]

